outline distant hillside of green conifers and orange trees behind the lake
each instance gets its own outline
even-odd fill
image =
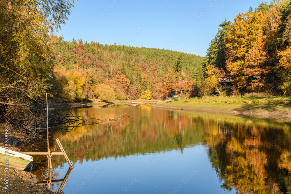
[[[145,47],[52,37],[56,65],[51,93],[64,100],[162,99],[199,84],[205,57]]]

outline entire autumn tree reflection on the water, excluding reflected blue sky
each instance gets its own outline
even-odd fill
[[[212,167],[225,190],[291,191],[290,123],[125,106],[128,105],[72,110],[74,115],[100,119],[128,114],[123,116],[125,122],[83,126],[70,133],[55,132],[52,139],[61,140],[72,163],[173,149],[183,153],[188,146],[206,143]],[[58,145],[51,142],[51,151],[59,151]],[[53,162],[56,168],[63,167],[66,161],[54,156]]]

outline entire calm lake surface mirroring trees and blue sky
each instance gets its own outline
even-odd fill
[[[67,110],[66,110],[67,111]],[[69,110],[89,118],[59,138],[74,168],[64,193],[288,193],[291,192],[290,123],[150,108],[146,104]],[[35,143],[45,151],[45,140]],[[23,147],[25,149],[25,146]],[[45,180],[46,158],[35,156],[33,173]],[[52,179],[69,165],[52,156]],[[53,184],[57,190],[60,183]]]

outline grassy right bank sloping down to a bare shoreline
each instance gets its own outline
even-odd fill
[[[291,117],[288,97],[208,97],[149,105],[173,110]]]

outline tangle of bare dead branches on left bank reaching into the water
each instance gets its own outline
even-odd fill
[[[41,138],[46,129],[47,117],[49,118],[49,129],[68,132],[75,127],[99,124],[102,122],[121,122],[122,115],[109,119],[88,118],[73,115],[71,112],[47,113],[42,102],[21,101],[17,103],[0,102],[0,122],[7,123],[15,131],[24,134],[25,141]],[[46,107],[48,108],[48,107]],[[96,122],[97,121],[97,122]],[[89,124],[88,124],[89,122]],[[77,123],[77,124],[76,124]],[[74,126],[75,125],[75,126]]]

